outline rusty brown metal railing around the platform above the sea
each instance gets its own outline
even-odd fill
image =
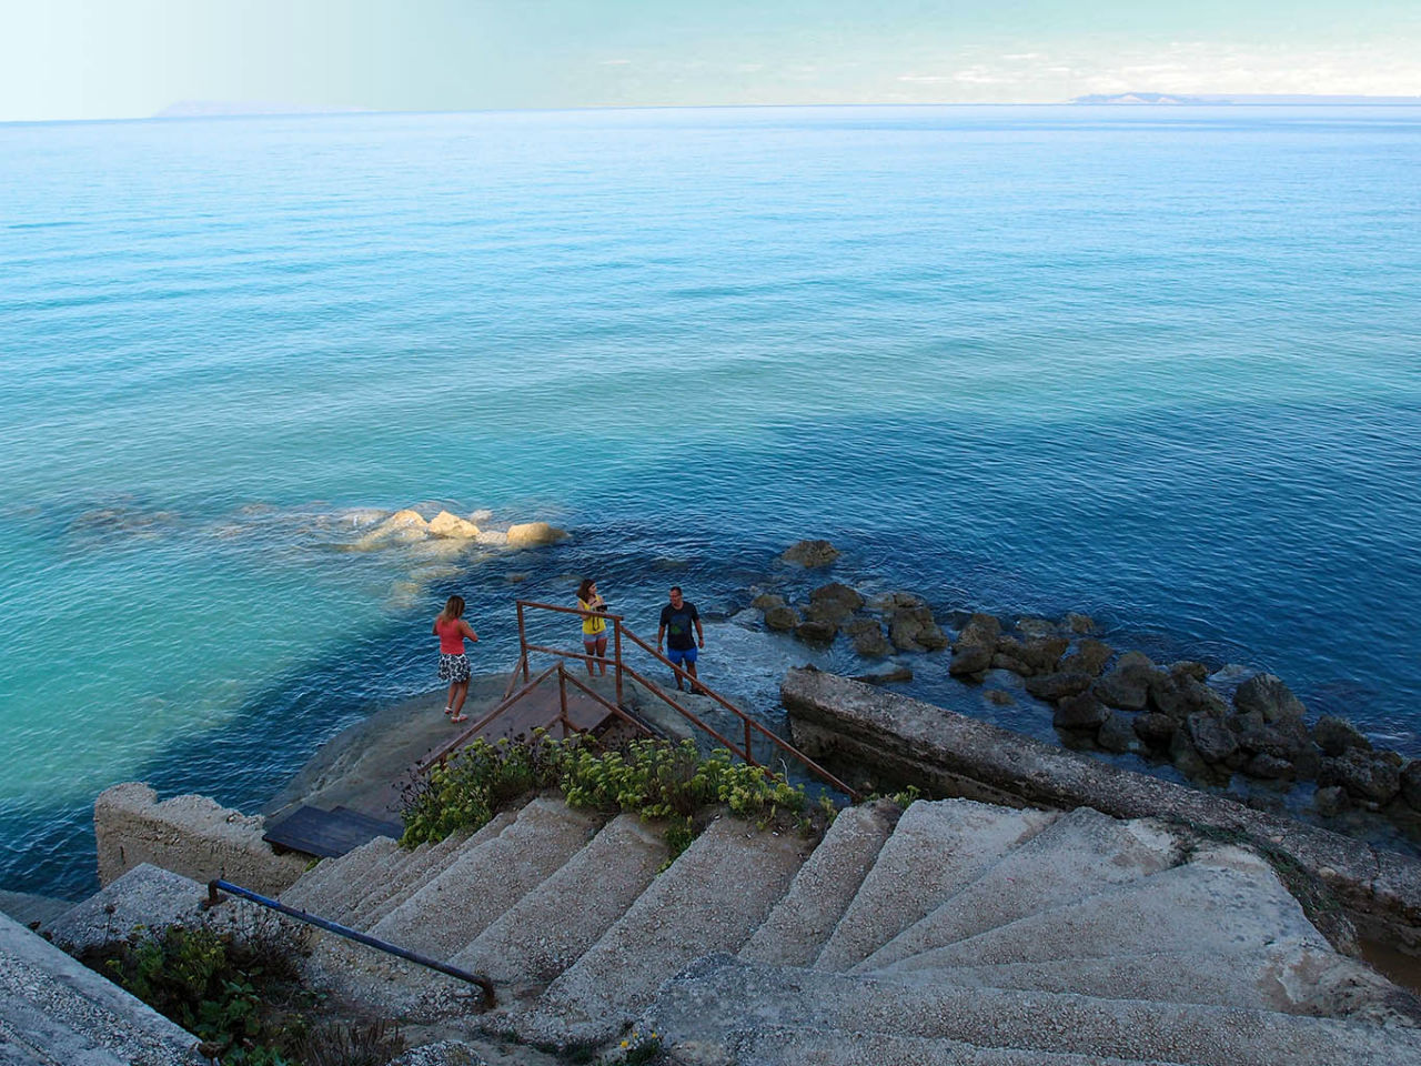
[[[585,651],[568,651],[566,648],[553,648],[553,647],[547,647],[547,645],[543,645],[543,644],[530,644],[529,642],[529,635],[527,635],[527,611],[529,610],[551,611],[551,613],[556,613],[556,614],[576,614],[576,615],[580,615],[580,617],[593,617],[593,618],[603,618],[603,620],[605,620],[607,623],[611,624],[611,632],[612,632],[611,655],[610,657],[598,657],[598,655],[588,655]],[[799,762],[800,765],[803,765],[814,776],[817,776],[821,780],[827,782],[828,785],[834,786],[840,792],[847,793],[848,796],[854,797],[855,800],[861,799],[861,796],[860,796],[860,793],[857,790],[851,789],[848,785],[845,785],[844,782],[841,782],[838,777],[836,777],[833,773],[830,773],[828,770],[826,770],[817,762],[814,762],[813,759],[810,759],[807,755],[804,755],[804,752],[801,752],[797,748],[794,748],[791,743],[789,743],[787,741],[784,741],[783,738],[780,738],[772,729],[767,729],[766,726],[760,725],[757,721],[755,721],[750,715],[747,715],[745,711],[742,711],[733,702],[730,702],[723,695],[720,695],[719,692],[716,692],[715,689],[712,689],[709,685],[706,685],[705,681],[702,681],[702,679],[699,679],[696,677],[692,677],[685,669],[682,669],[675,662],[672,662],[669,658],[666,658],[659,651],[657,651],[655,648],[652,648],[647,641],[644,641],[641,637],[638,637],[635,632],[632,632],[631,628],[627,627],[627,624],[622,621],[622,617],[620,614],[610,614],[607,611],[583,611],[581,608],[577,608],[577,607],[564,607],[561,604],[537,603],[536,600],[519,600],[517,601],[517,617],[519,617],[519,661],[517,661],[517,665],[513,669],[513,675],[509,678],[507,688],[503,692],[503,699],[499,702],[499,705],[496,708],[493,708],[493,711],[490,711],[487,715],[485,715],[477,722],[475,722],[472,726],[469,726],[469,729],[466,729],[463,733],[460,733],[453,741],[450,741],[446,745],[443,745],[442,748],[439,748],[432,755],[426,756],[419,763],[419,766],[418,766],[419,770],[426,770],[429,766],[433,766],[435,763],[443,762],[449,756],[450,752],[453,752],[455,749],[458,749],[458,748],[463,746],[465,743],[468,743],[469,739],[472,739],[476,733],[479,733],[486,726],[492,725],[500,715],[506,714],[520,699],[523,699],[530,692],[533,692],[534,689],[537,689],[543,682],[546,682],[554,674],[558,678],[560,712],[558,712],[557,716],[549,719],[549,722],[546,723],[544,728],[551,729],[551,726],[554,726],[554,725],[561,725],[564,736],[567,736],[570,733],[570,731],[576,731],[576,726],[571,723],[571,721],[567,716],[567,685],[571,684],[574,688],[577,688],[578,691],[581,691],[585,695],[591,696],[594,701],[597,701],[598,704],[601,704],[603,706],[605,706],[612,714],[618,715],[624,721],[627,721],[631,725],[634,725],[638,731],[641,731],[644,733],[649,733],[651,731],[648,731],[641,722],[638,722],[635,718],[632,718],[631,715],[628,715],[621,708],[621,704],[624,702],[624,685],[625,685],[625,679],[630,678],[630,679],[635,681],[638,685],[641,685],[642,688],[645,688],[648,692],[651,692],[651,695],[654,695],[657,699],[661,699],[664,704],[666,704],[671,709],[674,709],[676,714],[679,714],[688,722],[691,722],[691,725],[693,725],[696,729],[699,729],[703,733],[712,736],[718,743],[720,743],[729,752],[732,752],[733,755],[739,756],[740,759],[743,759],[745,762],[750,763],[752,766],[762,766],[762,763],[755,758],[755,743],[753,743],[755,738],[760,736],[764,741],[767,741],[770,745],[773,745],[774,749],[777,749],[783,755],[786,755],[786,756],[794,759],[796,762]],[[745,729],[743,743],[737,745],[735,741],[730,741],[728,736],[722,735],[712,725],[709,725],[708,722],[702,721],[695,712],[692,712],[688,708],[682,706],[671,694],[668,694],[665,689],[662,689],[654,681],[651,681],[649,678],[647,678],[642,672],[639,672],[639,671],[634,669],[632,667],[627,665],[627,661],[625,661],[625,658],[622,655],[622,640],[624,638],[628,640],[628,641],[631,641],[635,647],[641,648],[648,655],[651,655],[651,658],[654,658],[657,662],[659,662],[661,665],[666,667],[672,672],[672,675],[678,679],[678,684],[679,684],[679,681],[689,682],[692,691],[698,691],[698,692],[705,694],[706,696],[709,696],[710,699],[713,699],[716,704],[719,704],[722,708],[725,708],[726,711],[729,711],[730,714],[733,714],[740,721],[740,725]],[[540,672],[537,677],[533,677],[531,668],[530,668],[530,664],[529,664],[529,654],[530,652],[537,652],[537,654],[543,654],[543,655],[554,655],[554,657],[558,658],[558,662],[556,662],[554,665],[549,667],[547,669],[544,669],[543,672]],[[611,665],[612,669],[614,669],[614,684],[615,684],[615,688],[617,688],[617,704],[614,705],[611,701],[608,701],[604,696],[601,696],[600,694],[597,694],[590,685],[583,684],[576,677],[573,677],[571,674],[568,674],[567,669],[566,669],[566,667],[564,667],[564,661],[566,659],[578,659],[581,662],[585,662],[588,665],[588,669],[591,669],[593,664],[607,664],[607,665]],[[523,681],[522,685],[519,685],[519,678],[522,678],[522,681]],[[764,768],[764,766],[762,766],[762,769],[764,769],[766,773],[772,772],[769,768]]]

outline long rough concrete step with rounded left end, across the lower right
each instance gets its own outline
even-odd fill
[[[639,1030],[659,1035],[671,1062],[733,1062],[736,1033],[780,1025],[1191,1066],[1421,1066],[1414,1029],[958,988],[766,967],[730,955],[699,959],[681,972],[637,1022]]]

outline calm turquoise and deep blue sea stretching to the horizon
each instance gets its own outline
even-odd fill
[[[1418,172],[1412,108],[0,126],[0,887],[118,780],[254,809],[453,590],[502,669],[514,596],[728,615],[816,534],[1421,755]],[[342,550],[422,502],[577,536]]]

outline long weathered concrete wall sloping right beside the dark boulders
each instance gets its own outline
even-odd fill
[[[1292,856],[1368,935],[1421,951],[1421,863],[1414,858],[836,674],[791,669],[780,696],[794,745],[831,768],[872,768],[941,796],[1086,806],[1123,819],[1165,817],[1238,833]]]

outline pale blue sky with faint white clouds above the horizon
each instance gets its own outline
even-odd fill
[[[0,0],[0,121],[1421,95],[1418,0]]]

